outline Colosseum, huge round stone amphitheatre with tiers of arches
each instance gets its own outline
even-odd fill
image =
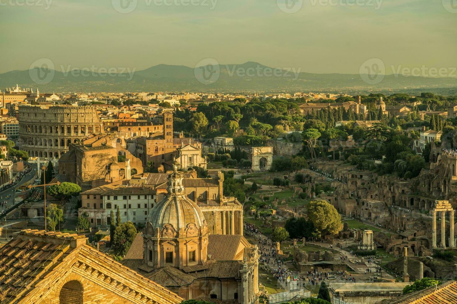
[[[104,133],[96,109],[90,106],[19,106],[19,145],[31,157],[59,158],[69,144],[89,134]]]

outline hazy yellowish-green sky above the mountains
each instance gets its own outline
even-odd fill
[[[205,58],[317,73],[356,74],[370,58],[387,73],[457,67],[457,0],[130,0],[130,13],[114,8],[120,1],[132,8],[129,0],[0,0],[0,72],[40,58],[56,70],[194,67]]]

